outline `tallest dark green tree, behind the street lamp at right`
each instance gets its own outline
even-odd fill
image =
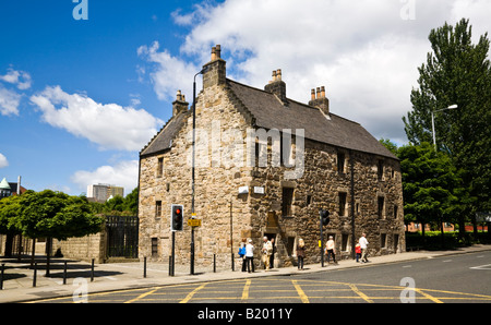
[[[419,68],[419,88],[412,89],[412,111],[404,117],[410,143],[432,142],[431,116],[435,118],[436,144],[459,170],[459,193],[465,208],[491,209],[491,64],[488,34],[474,45],[472,27],[462,20],[444,24],[429,35],[432,52]],[[440,109],[457,105],[458,109]]]

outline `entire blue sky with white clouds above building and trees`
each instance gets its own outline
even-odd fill
[[[487,0],[0,0],[0,179],[79,195],[89,183],[137,183],[140,149],[220,44],[228,76],[262,88],[283,69],[287,96],[326,86],[332,111],[405,143],[417,68],[431,28]]]

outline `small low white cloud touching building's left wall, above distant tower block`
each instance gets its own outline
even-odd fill
[[[124,188],[124,195],[137,186],[139,160],[120,161],[116,166],[101,166],[94,171],[79,170],[71,181],[86,191],[89,184],[112,184]]]

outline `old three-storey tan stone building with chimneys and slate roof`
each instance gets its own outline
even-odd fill
[[[367,233],[371,255],[405,251],[403,189],[397,158],[359,123],[330,111],[325,88],[307,104],[286,94],[282,71],[258,89],[227,79],[220,47],[203,72],[196,98],[195,264],[229,268],[242,240],[255,263],[263,236],[275,238],[277,266],[320,261],[320,208],[331,213],[324,240],[350,257]],[[184,206],[176,263],[190,263],[193,115],[178,92],[173,115],[140,153],[140,257],[168,261],[171,204]],[[238,261],[237,261],[238,262]],[[236,263],[237,263],[236,262]],[[236,264],[237,265],[237,264]]]

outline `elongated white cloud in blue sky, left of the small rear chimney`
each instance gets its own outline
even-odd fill
[[[99,104],[83,94],[68,94],[60,86],[46,87],[31,101],[52,127],[88,139],[103,149],[140,151],[163,121],[143,109]]]

